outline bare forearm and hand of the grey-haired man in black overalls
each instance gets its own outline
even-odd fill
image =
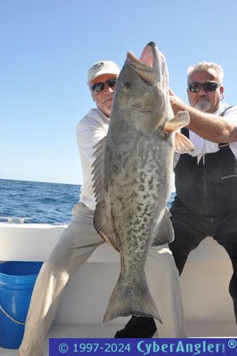
[[[232,122],[186,105],[171,91],[170,103],[175,115],[180,110],[189,112],[190,123],[187,127],[205,140],[217,143],[237,141],[237,130]]]

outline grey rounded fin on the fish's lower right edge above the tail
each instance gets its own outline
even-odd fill
[[[151,246],[161,246],[168,244],[175,238],[174,229],[170,220],[168,208],[165,208],[163,217],[158,223],[154,231],[154,239],[151,241]]]

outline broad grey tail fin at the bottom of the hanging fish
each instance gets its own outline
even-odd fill
[[[133,283],[132,286],[123,284],[119,279],[110,296],[110,300],[103,316],[102,324],[108,323],[118,317],[135,315],[140,317],[153,317],[162,323],[159,312],[146,281]]]

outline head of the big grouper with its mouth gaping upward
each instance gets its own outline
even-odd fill
[[[140,59],[131,52],[119,74],[113,99],[113,112],[144,134],[153,134],[168,115],[168,69],[164,56],[153,42],[143,49]]]

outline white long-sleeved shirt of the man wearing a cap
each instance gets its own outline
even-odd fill
[[[106,136],[110,118],[100,109],[90,109],[76,127],[78,150],[81,158],[83,183],[81,186],[80,202],[89,209],[95,209],[93,189],[92,164],[94,163],[94,146]]]

